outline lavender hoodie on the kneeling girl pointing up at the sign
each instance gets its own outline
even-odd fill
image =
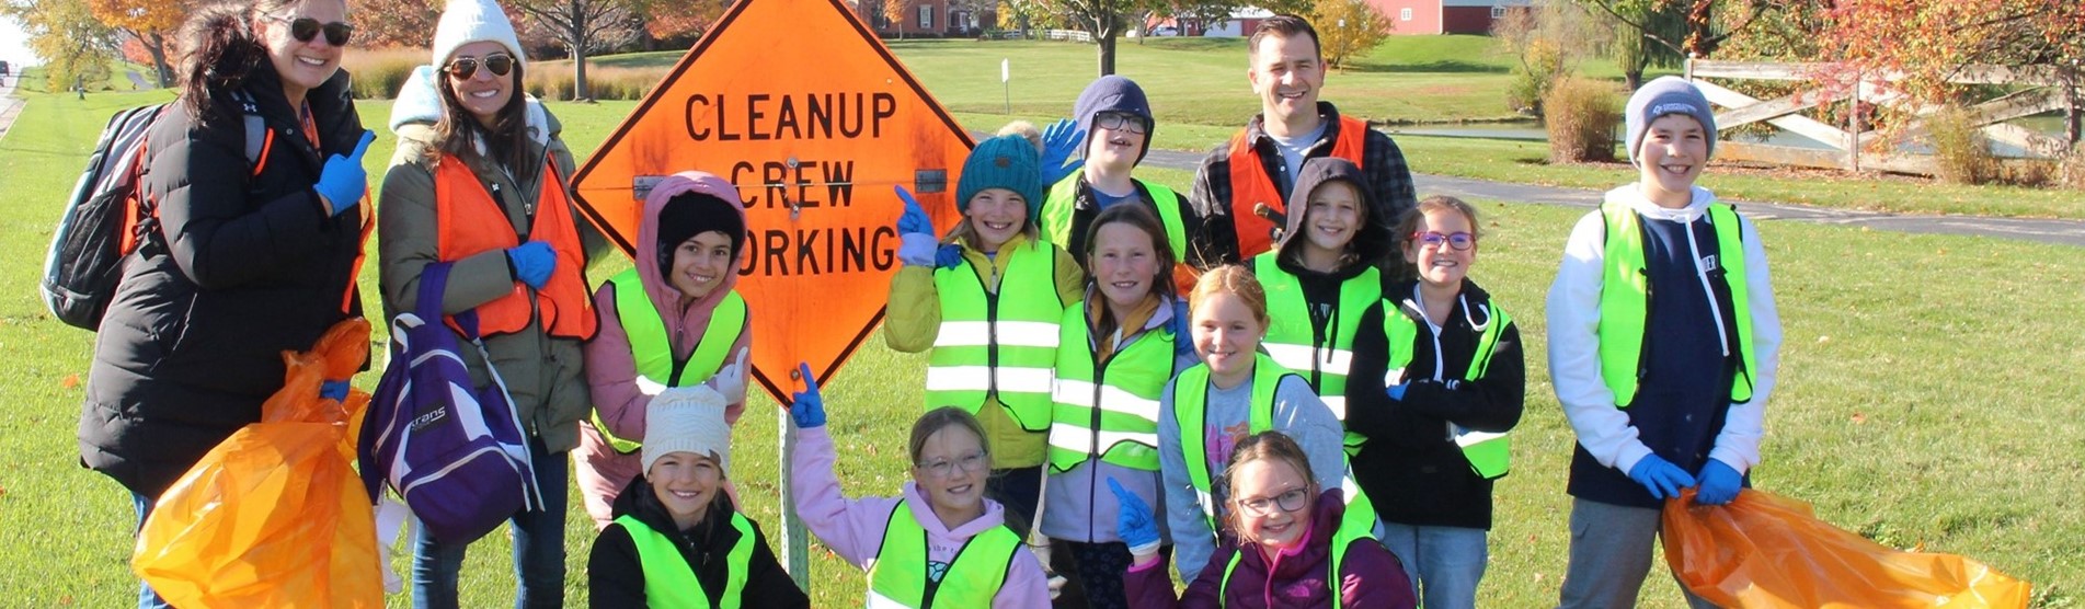
[[[909,501],[905,505],[909,517],[926,530],[926,557],[936,563],[953,559],[980,532],[1005,526],[1005,509],[986,498],[984,515],[951,530],[940,523],[940,517],[934,517],[934,509],[928,507],[928,498],[913,482],[905,482],[903,496],[847,498],[840,480],[832,473],[834,459],[832,436],[826,434],[826,428],[796,430],[796,457],[790,463],[796,471],[790,488],[796,492],[796,515],[826,549],[863,571],[884,551],[884,530],[890,526],[890,511],[897,509],[899,501]],[[1034,553],[1013,553],[1007,580],[992,596],[992,609],[1017,607],[1051,607],[1049,580]]]

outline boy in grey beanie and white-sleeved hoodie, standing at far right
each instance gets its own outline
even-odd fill
[[[1578,221],[1549,286],[1549,373],[1578,432],[1562,607],[1635,607],[1660,505],[1737,496],[1781,363],[1760,234],[1695,186],[1716,150],[1708,100],[1662,77],[1626,119],[1639,179]]]

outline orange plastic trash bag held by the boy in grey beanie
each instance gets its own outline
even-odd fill
[[[1743,490],[1722,507],[1666,501],[1672,574],[1720,607],[2027,607],[2029,584],[1958,555],[1895,551],[1810,505]]]

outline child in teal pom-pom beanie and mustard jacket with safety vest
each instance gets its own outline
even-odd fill
[[[1063,248],[1036,240],[1042,204],[1040,136],[1011,123],[963,161],[947,238],[905,188],[899,261],[890,279],[884,342],[930,350],[926,409],[959,407],[997,446],[986,496],[1007,521],[1030,530],[1051,423],[1057,323],[1084,290],[1086,273]],[[1063,165],[1057,159],[1057,165]]]

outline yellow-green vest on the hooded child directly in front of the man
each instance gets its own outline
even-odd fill
[[[1309,382],[1332,417],[1347,421],[1347,371],[1353,369],[1353,336],[1362,330],[1362,311],[1382,300],[1382,271],[1368,267],[1339,284],[1339,309],[1332,311],[1330,336],[1318,342],[1311,325],[1303,282],[1282,271],[1280,250],[1253,257],[1253,275],[1268,292],[1268,355]],[[1347,432],[1347,457],[1362,453],[1368,436]]]

